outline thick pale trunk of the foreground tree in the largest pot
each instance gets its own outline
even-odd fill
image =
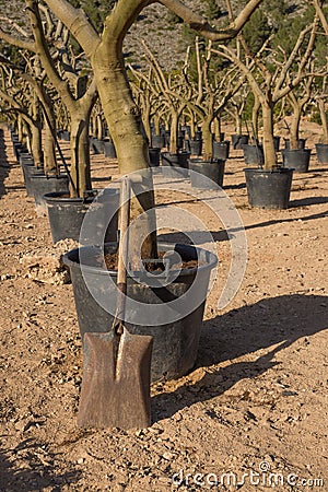
[[[116,148],[119,172],[129,174],[148,169],[150,166],[149,147],[144,139],[141,115],[133,102],[119,49],[116,51],[114,47],[101,44],[92,59],[92,65],[104,115]],[[142,220],[139,221],[142,226],[136,231],[137,237],[131,237],[130,241],[131,246],[136,248],[134,251],[131,251],[131,267],[138,269],[140,269],[140,262],[136,258],[140,259],[138,251],[140,246],[142,258],[157,256],[151,176],[144,181],[147,181],[144,192],[138,196],[138,201],[132,200],[131,208],[131,220],[147,210],[152,210],[152,213],[142,215]],[[145,236],[142,235],[142,229],[147,231]],[[138,261],[137,265],[136,261]]]

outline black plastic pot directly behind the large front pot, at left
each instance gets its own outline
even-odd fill
[[[96,194],[96,190],[95,190]],[[61,239],[74,239],[80,244],[103,244],[117,239],[117,211],[119,192],[114,189],[106,189],[104,199],[96,208],[92,208],[94,220],[90,231],[85,230],[81,237],[81,226],[86,212],[90,210],[94,198],[69,198],[65,192],[52,192],[44,195],[47,203],[48,220],[50,224],[52,243]],[[109,221],[109,218],[113,219]],[[109,224],[108,224],[109,221]],[[106,226],[106,224],[108,224]],[[104,234],[104,231],[106,233]]]

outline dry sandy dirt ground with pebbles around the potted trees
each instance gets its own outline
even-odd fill
[[[77,426],[81,340],[59,261],[73,244],[52,245],[47,216],[37,216],[26,198],[4,128],[1,491],[328,490],[328,165],[316,159],[319,128],[304,124],[303,133],[313,149],[311,168],[294,174],[288,210],[249,208],[243,153],[232,150],[224,189],[247,236],[242,284],[219,309],[231,248],[209,214],[219,281],[207,302],[196,367],[152,386],[150,427],[121,431]],[[93,155],[92,162],[95,187],[117,175],[115,161]],[[192,213],[201,207],[185,201]]]

